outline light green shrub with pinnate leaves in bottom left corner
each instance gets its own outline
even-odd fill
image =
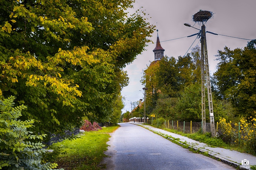
[[[27,128],[33,127],[34,120],[18,120],[24,105],[13,108],[15,97],[0,100],[0,169],[26,169],[48,170],[57,167],[56,163],[41,163],[41,142],[30,140],[43,140],[46,135],[32,135]]]

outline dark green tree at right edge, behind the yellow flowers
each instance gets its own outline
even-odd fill
[[[240,116],[255,115],[256,102],[256,40],[244,49],[218,51],[219,63],[213,74],[216,94],[231,101]],[[236,115],[238,116],[238,115]]]

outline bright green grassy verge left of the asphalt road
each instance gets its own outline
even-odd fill
[[[65,170],[98,170],[99,163],[106,157],[109,133],[119,126],[110,126],[96,132],[84,132],[74,140],[63,140],[49,147],[54,152],[46,154],[45,160],[55,162]]]

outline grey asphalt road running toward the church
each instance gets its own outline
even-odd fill
[[[202,154],[190,152],[153,132],[119,123],[112,133],[105,158],[107,170],[234,169]]]

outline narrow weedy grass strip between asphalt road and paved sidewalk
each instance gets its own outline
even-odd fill
[[[137,125],[138,125],[138,124],[137,124]],[[215,155],[210,154],[209,152],[204,152],[204,151],[201,151],[201,150],[198,149],[198,148],[194,148],[194,147],[188,145],[187,142],[182,142],[182,141],[180,141],[179,138],[175,138],[175,137],[172,137],[172,136],[169,136],[169,135],[160,133],[160,132],[156,132],[156,131],[154,131],[154,130],[152,130],[152,129],[149,129],[149,128],[147,128],[147,127],[145,127],[145,126],[142,126],[142,125],[138,125],[138,126],[141,126],[141,127],[145,128],[145,129],[148,129],[149,131],[151,131],[151,132],[153,132],[153,133],[155,133],[155,134],[157,134],[157,135],[160,135],[160,136],[166,138],[167,140],[170,140],[172,143],[175,143],[175,144],[177,144],[177,145],[179,145],[179,146],[181,146],[181,147],[183,147],[183,148],[185,148],[185,149],[189,149],[189,151],[191,151],[191,152],[193,152],[193,153],[205,155],[205,156],[210,157],[210,158],[213,158],[213,159],[215,159],[215,160],[217,160],[217,161],[221,161],[221,162],[223,162],[223,163],[225,163],[225,164],[228,164],[229,166],[233,166],[233,167],[236,168],[236,169],[239,169],[239,165],[241,164],[241,163],[233,163],[233,162],[231,162],[231,161],[229,161],[229,160],[220,159],[219,157],[216,157]],[[150,125],[149,125],[149,126],[150,126]],[[152,126],[152,127],[154,127],[154,126]]]

